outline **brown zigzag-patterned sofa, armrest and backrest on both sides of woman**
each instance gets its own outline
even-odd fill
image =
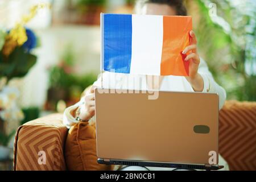
[[[219,151],[230,170],[256,170],[256,102],[226,101],[219,115]],[[62,114],[27,122],[16,131],[14,170],[66,170]],[[38,163],[46,151],[46,165]]]

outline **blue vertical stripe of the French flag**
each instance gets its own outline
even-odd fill
[[[104,14],[104,70],[130,73],[132,16]]]

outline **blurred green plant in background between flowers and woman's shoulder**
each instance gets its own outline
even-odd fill
[[[60,100],[65,102],[65,106],[75,104],[80,100],[83,90],[97,80],[97,73],[76,73],[76,56],[73,51],[72,45],[69,44],[59,63],[49,68],[47,110],[57,110]]]

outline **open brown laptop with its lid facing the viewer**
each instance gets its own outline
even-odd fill
[[[218,95],[95,90],[100,164],[217,170]]]

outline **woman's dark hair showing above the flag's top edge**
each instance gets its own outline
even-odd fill
[[[162,5],[169,5],[176,10],[176,14],[180,16],[187,16],[187,9],[184,6],[183,0],[138,0],[137,4],[143,6],[146,3],[156,3]]]

